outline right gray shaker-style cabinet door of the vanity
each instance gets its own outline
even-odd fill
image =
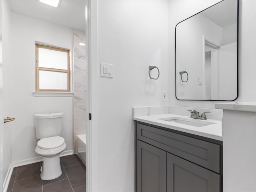
[[[220,192],[220,174],[167,153],[167,192]]]

